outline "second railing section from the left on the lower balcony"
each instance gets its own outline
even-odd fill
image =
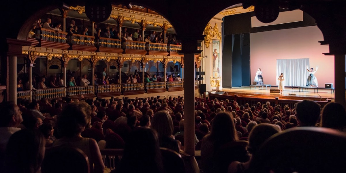
[[[66,95],[66,88],[49,88],[49,89],[40,89],[33,91],[33,99],[39,100],[41,98],[53,99],[61,98]]]

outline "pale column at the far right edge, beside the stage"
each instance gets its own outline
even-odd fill
[[[334,55],[335,102],[345,105],[345,54]]]

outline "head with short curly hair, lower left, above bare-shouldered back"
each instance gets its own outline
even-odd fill
[[[85,102],[69,103],[57,117],[57,129],[62,136],[80,135],[91,114],[91,107]]]

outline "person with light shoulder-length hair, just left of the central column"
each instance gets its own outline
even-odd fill
[[[172,118],[167,111],[158,111],[154,114],[151,128],[157,131],[160,147],[169,148],[179,153],[178,141],[172,135]]]

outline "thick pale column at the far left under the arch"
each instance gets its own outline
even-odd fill
[[[9,100],[17,104],[17,56],[9,56]]]

